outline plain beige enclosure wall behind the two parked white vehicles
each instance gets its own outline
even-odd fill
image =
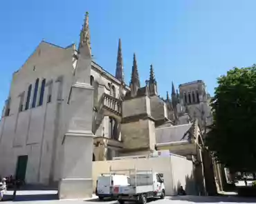
[[[153,170],[162,173],[165,179],[165,190],[167,195],[175,195],[178,185],[188,190],[189,194],[196,194],[193,190],[193,164],[183,156],[172,154],[170,157],[158,157],[149,159],[124,159],[116,161],[95,161],[93,162],[93,190],[96,187],[98,176],[102,173],[109,173],[110,169],[123,170],[118,173],[124,173],[129,176],[125,169]],[[175,177],[175,178],[174,178]]]

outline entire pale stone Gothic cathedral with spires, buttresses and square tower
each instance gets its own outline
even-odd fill
[[[39,43],[12,75],[0,121],[0,175],[16,175],[26,183],[59,183],[63,197],[67,188],[91,187],[91,170],[84,168],[92,161],[163,147],[196,158],[191,140],[196,143],[199,132],[212,123],[205,84],[192,81],[176,90],[172,83],[171,94],[163,99],[153,65],[142,86],[136,54],[131,60],[129,84],[120,39],[114,75],[91,60],[88,13],[78,48]]]

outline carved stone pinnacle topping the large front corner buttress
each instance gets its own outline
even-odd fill
[[[86,51],[91,55],[91,35],[89,29],[89,12],[86,12],[84,25],[82,26],[82,30],[80,32],[80,43],[78,47],[78,52],[80,52],[81,48],[87,48]]]

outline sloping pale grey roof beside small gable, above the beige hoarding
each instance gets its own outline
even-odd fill
[[[165,128],[156,128],[156,143],[170,143],[181,141],[183,136],[190,128],[192,127],[192,123],[185,125],[174,125]],[[187,134],[183,140],[188,141]]]

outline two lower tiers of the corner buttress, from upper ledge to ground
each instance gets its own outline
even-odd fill
[[[62,141],[62,179],[60,199],[89,198],[93,193],[93,88],[91,85],[73,85],[66,118],[68,130]]]

